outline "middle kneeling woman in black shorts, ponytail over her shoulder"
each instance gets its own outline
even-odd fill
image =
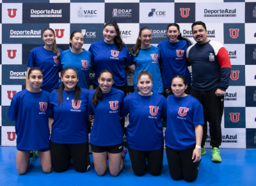
[[[88,106],[88,114],[95,116],[90,136],[94,168],[99,176],[104,175],[108,155],[109,171],[112,176],[117,176],[124,166],[120,107],[125,94],[112,87],[114,75],[108,69],[99,73],[98,83],[99,87],[90,93]]]

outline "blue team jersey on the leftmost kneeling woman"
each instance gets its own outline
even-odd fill
[[[12,98],[7,117],[15,121],[17,149],[36,151],[49,148],[48,106],[50,93],[27,89]]]

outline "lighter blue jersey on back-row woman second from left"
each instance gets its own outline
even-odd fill
[[[60,55],[60,70],[67,68],[68,66],[77,70],[79,82],[78,87],[89,89],[89,69],[92,62],[92,53],[83,50],[80,54],[74,54],[71,50],[65,50]]]

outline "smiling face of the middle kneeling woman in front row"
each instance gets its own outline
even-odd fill
[[[98,78],[99,87],[103,94],[110,92],[114,84],[113,76],[111,73],[102,73]]]

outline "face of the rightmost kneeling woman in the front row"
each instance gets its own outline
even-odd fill
[[[172,92],[175,97],[184,97],[187,85],[184,84],[182,78],[173,78],[172,80]]]

